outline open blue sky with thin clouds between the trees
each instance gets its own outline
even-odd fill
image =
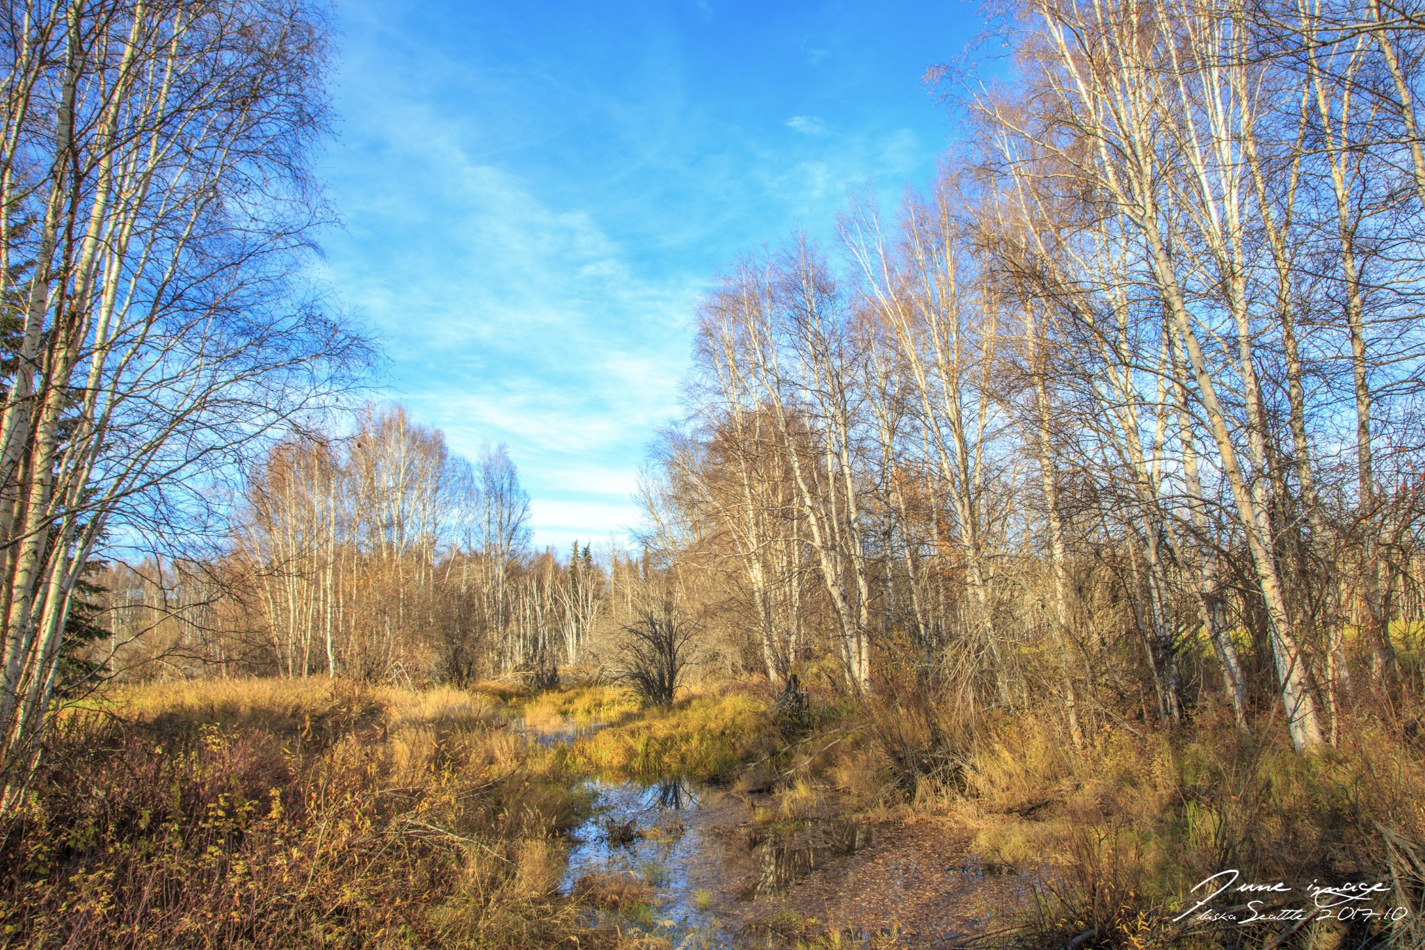
[[[323,276],[383,339],[383,397],[455,451],[507,443],[560,548],[637,520],[720,268],[931,181],[953,130],[922,77],[978,30],[960,1],[339,0],[338,23]]]

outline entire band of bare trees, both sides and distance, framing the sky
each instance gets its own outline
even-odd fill
[[[329,218],[325,13],[10,4],[7,795],[53,696],[115,675],[671,694],[698,661],[929,711],[932,749],[996,711],[1297,751],[1415,722],[1425,19],[996,16],[1012,54],[942,77],[963,134],[928,192],[703,301],[636,553],[556,555],[503,449],[319,412],[370,362],[294,276]]]

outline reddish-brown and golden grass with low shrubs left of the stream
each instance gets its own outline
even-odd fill
[[[579,795],[486,728],[487,695],[249,679],[113,706],[63,719],[0,828],[0,947],[600,943],[554,893]]]

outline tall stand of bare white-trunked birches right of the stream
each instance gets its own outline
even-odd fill
[[[1298,751],[1362,696],[1416,715],[1421,13],[1000,26],[1005,81],[945,77],[966,142],[928,194],[704,302],[657,550],[774,681],[831,657],[1074,742],[1133,706]]]

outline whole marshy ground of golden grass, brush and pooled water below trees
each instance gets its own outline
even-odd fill
[[[0,946],[1210,947],[1223,927],[1171,919],[1224,866],[1421,897],[1401,819],[1425,766],[1379,728],[1304,759],[1243,748],[1230,719],[1077,749],[985,724],[960,782],[908,789],[874,711],[815,691],[808,709],[788,722],[732,684],[671,706],[598,685],[124,687],[61,716],[0,826]],[[1414,946],[1369,922],[1301,934]]]

